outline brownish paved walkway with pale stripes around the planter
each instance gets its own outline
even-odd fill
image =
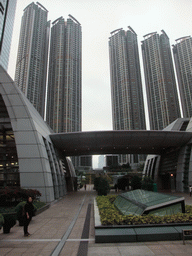
[[[186,194],[186,204],[192,197]],[[29,225],[30,237],[23,236],[18,224],[9,234],[0,230],[0,256],[123,256],[123,255],[192,255],[192,240],[95,244],[92,186],[87,190],[69,193]]]

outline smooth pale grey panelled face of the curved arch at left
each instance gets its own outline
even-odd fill
[[[7,106],[15,135],[20,185],[23,188],[39,190],[42,193],[41,201],[52,202],[55,199],[53,186],[58,184],[53,185],[50,162],[43,141],[44,138],[52,144],[49,138],[52,131],[2,67],[0,94]]]

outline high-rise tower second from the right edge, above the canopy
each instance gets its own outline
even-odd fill
[[[161,32],[147,34],[142,41],[151,130],[162,130],[181,115],[169,38]]]

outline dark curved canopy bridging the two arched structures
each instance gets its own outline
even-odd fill
[[[51,134],[55,147],[66,156],[102,154],[160,155],[192,139],[182,131],[91,131]]]

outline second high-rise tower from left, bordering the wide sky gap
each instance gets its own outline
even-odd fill
[[[55,132],[81,131],[81,24],[52,23],[46,121]]]

